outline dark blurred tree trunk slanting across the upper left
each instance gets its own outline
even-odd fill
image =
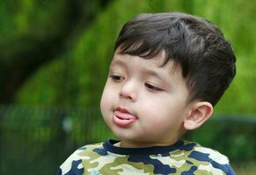
[[[55,5],[54,11],[45,21],[41,22],[40,19],[35,18],[34,24],[23,36],[4,40],[3,34],[0,33],[0,103],[2,104],[11,103],[18,88],[40,66],[59,58],[68,47],[72,46],[79,34],[93,23],[97,14],[104,10],[111,0],[48,2]],[[37,11],[37,7],[33,8],[33,11]]]

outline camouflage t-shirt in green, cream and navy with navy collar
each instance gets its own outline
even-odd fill
[[[58,175],[235,174],[228,158],[196,143],[179,140],[170,146],[121,148],[113,145],[117,142],[85,145],[60,166]]]

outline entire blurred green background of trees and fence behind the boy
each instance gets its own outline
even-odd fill
[[[143,12],[207,18],[230,40],[237,76],[186,139],[256,172],[256,1],[0,1],[0,174],[55,174],[77,147],[113,137],[99,100],[121,26]]]

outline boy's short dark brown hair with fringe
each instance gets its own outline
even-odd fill
[[[125,24],[114,51],[151,59],[165,51],[165,62],[181,66],[189,101],[213,106],[236,74],[236,57],[216,25],[180,12],[141,14]]]

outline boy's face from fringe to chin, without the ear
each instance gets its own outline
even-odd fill
[[[114,54],[100,108],[121,146],[173,144],[184,130],[188,89],[179,66],[163,61]]]

